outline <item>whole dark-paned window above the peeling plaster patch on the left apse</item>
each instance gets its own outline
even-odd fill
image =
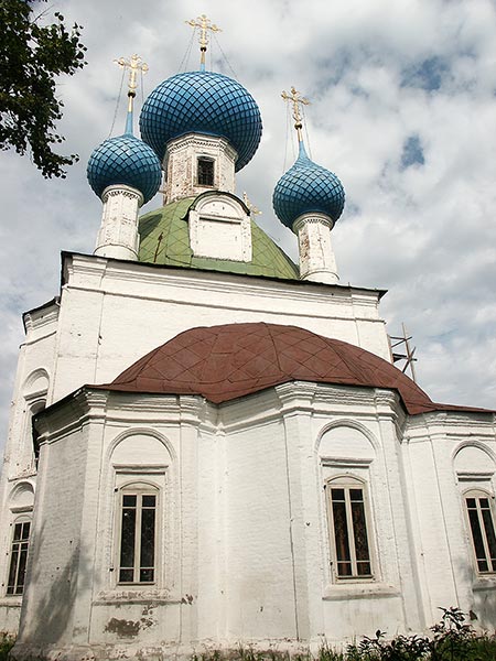
[[[157,494],[121,494],[119,583],[154,583]]]

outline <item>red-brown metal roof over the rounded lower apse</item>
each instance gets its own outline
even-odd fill
[[[266,323],[185,330],[101,388],[201,394],[218,404],[295,380],[397,390],[410,414],[484,411],[432,402],[393,365],[346,342]]]

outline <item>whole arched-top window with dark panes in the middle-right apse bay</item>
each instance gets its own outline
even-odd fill
[[[325,484],[330,545],[335,577],[371,578],[368,503],[365,484],[348,476]]]

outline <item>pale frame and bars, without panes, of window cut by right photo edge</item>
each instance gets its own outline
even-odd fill
[[[481,500],[482,499],[486,499],[488,501],[488,509],[489,511],[489,521],[492,524],[492,533],[493,533],[493,538],[495,538],[496,535],[496,507],[495,507],[495,497],[494,495],[481,487],[472,487],[468,489],[465,489],[462,494],[463,496],[463,509],[464,509],[464,516],[465,516],[465,522],[466,522],[466,528],[467,528],[467,537],[470,540],[470,544],[471,544],[471,549],[472,549],[472,557],[473,557],[473,563],[474,563],[474,568],[475,572],[477,573],[477,575],[479,576],[494,576],[496,574],[496,540],[493,540],[493,544],[489,542],[488,540],[488,534],[487,534],[487,527],[486,523],[484,521],[484,517],[482,514],[482,507],[481,507]],[[484,556],[479,557],[477,555],[477,544],[474,538],[474,529],[472,525],[472,519],[471,519],[471,514],[470,511],[474,508],[468,508],[468,499],[475,499],[476,500],[476,507],[475,507],[475,511],[476,511],[476,516],[477,516],[477,523],[478,523],[478,530],[481,532],[481,538],[482,538],[482,545],[484,549]],[[493,552],[494,552],[494,556],[492,556],[492,549],[490,546],[493,545]],[[487,570],[481,570],[479,567],[479,563],[486,563],[487,564]],[[490,567],[490,568],[489,568]]]

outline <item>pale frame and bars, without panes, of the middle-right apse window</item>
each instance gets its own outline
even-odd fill
[[[348,551],[349,551],[349,562],[352,573],[349,575],[339,574],[338,564],[343,561],[338,561],[338,552],[337,552],[337,539],[336,539],[336,530],[334,525],[334,512],[333,512],[333,497],[332,490],[338,488],[345,491],[345,516],[346,516],[346,532],[348,539]],[[355,524],[353,520],[352,513],[352,499],[351,491],[352,489],[360,489],[362,491],[362,502],[363,502],[363,517],[365,521],[365,539],[367,543],[367,560],[357,560],[356,556],[356,534],[355,534]],[[356,477],[354,475],[335,475],[328,477],[324,483],[324,491],[325,491],[325,510],[326,510],[326,519],[327,519],[327,538],[328,538],[328,546],[331,552],[331,573],[334,583],[368,583],[370,581],[376,579],[376,566],[374,560],[374,543],[373,543],[373,518],[369,507],[369,495],[368,495],[368,485],[364,479]],[[358,573],[358,563],[366,562],[369,565],[369,573],[359,574]]]

